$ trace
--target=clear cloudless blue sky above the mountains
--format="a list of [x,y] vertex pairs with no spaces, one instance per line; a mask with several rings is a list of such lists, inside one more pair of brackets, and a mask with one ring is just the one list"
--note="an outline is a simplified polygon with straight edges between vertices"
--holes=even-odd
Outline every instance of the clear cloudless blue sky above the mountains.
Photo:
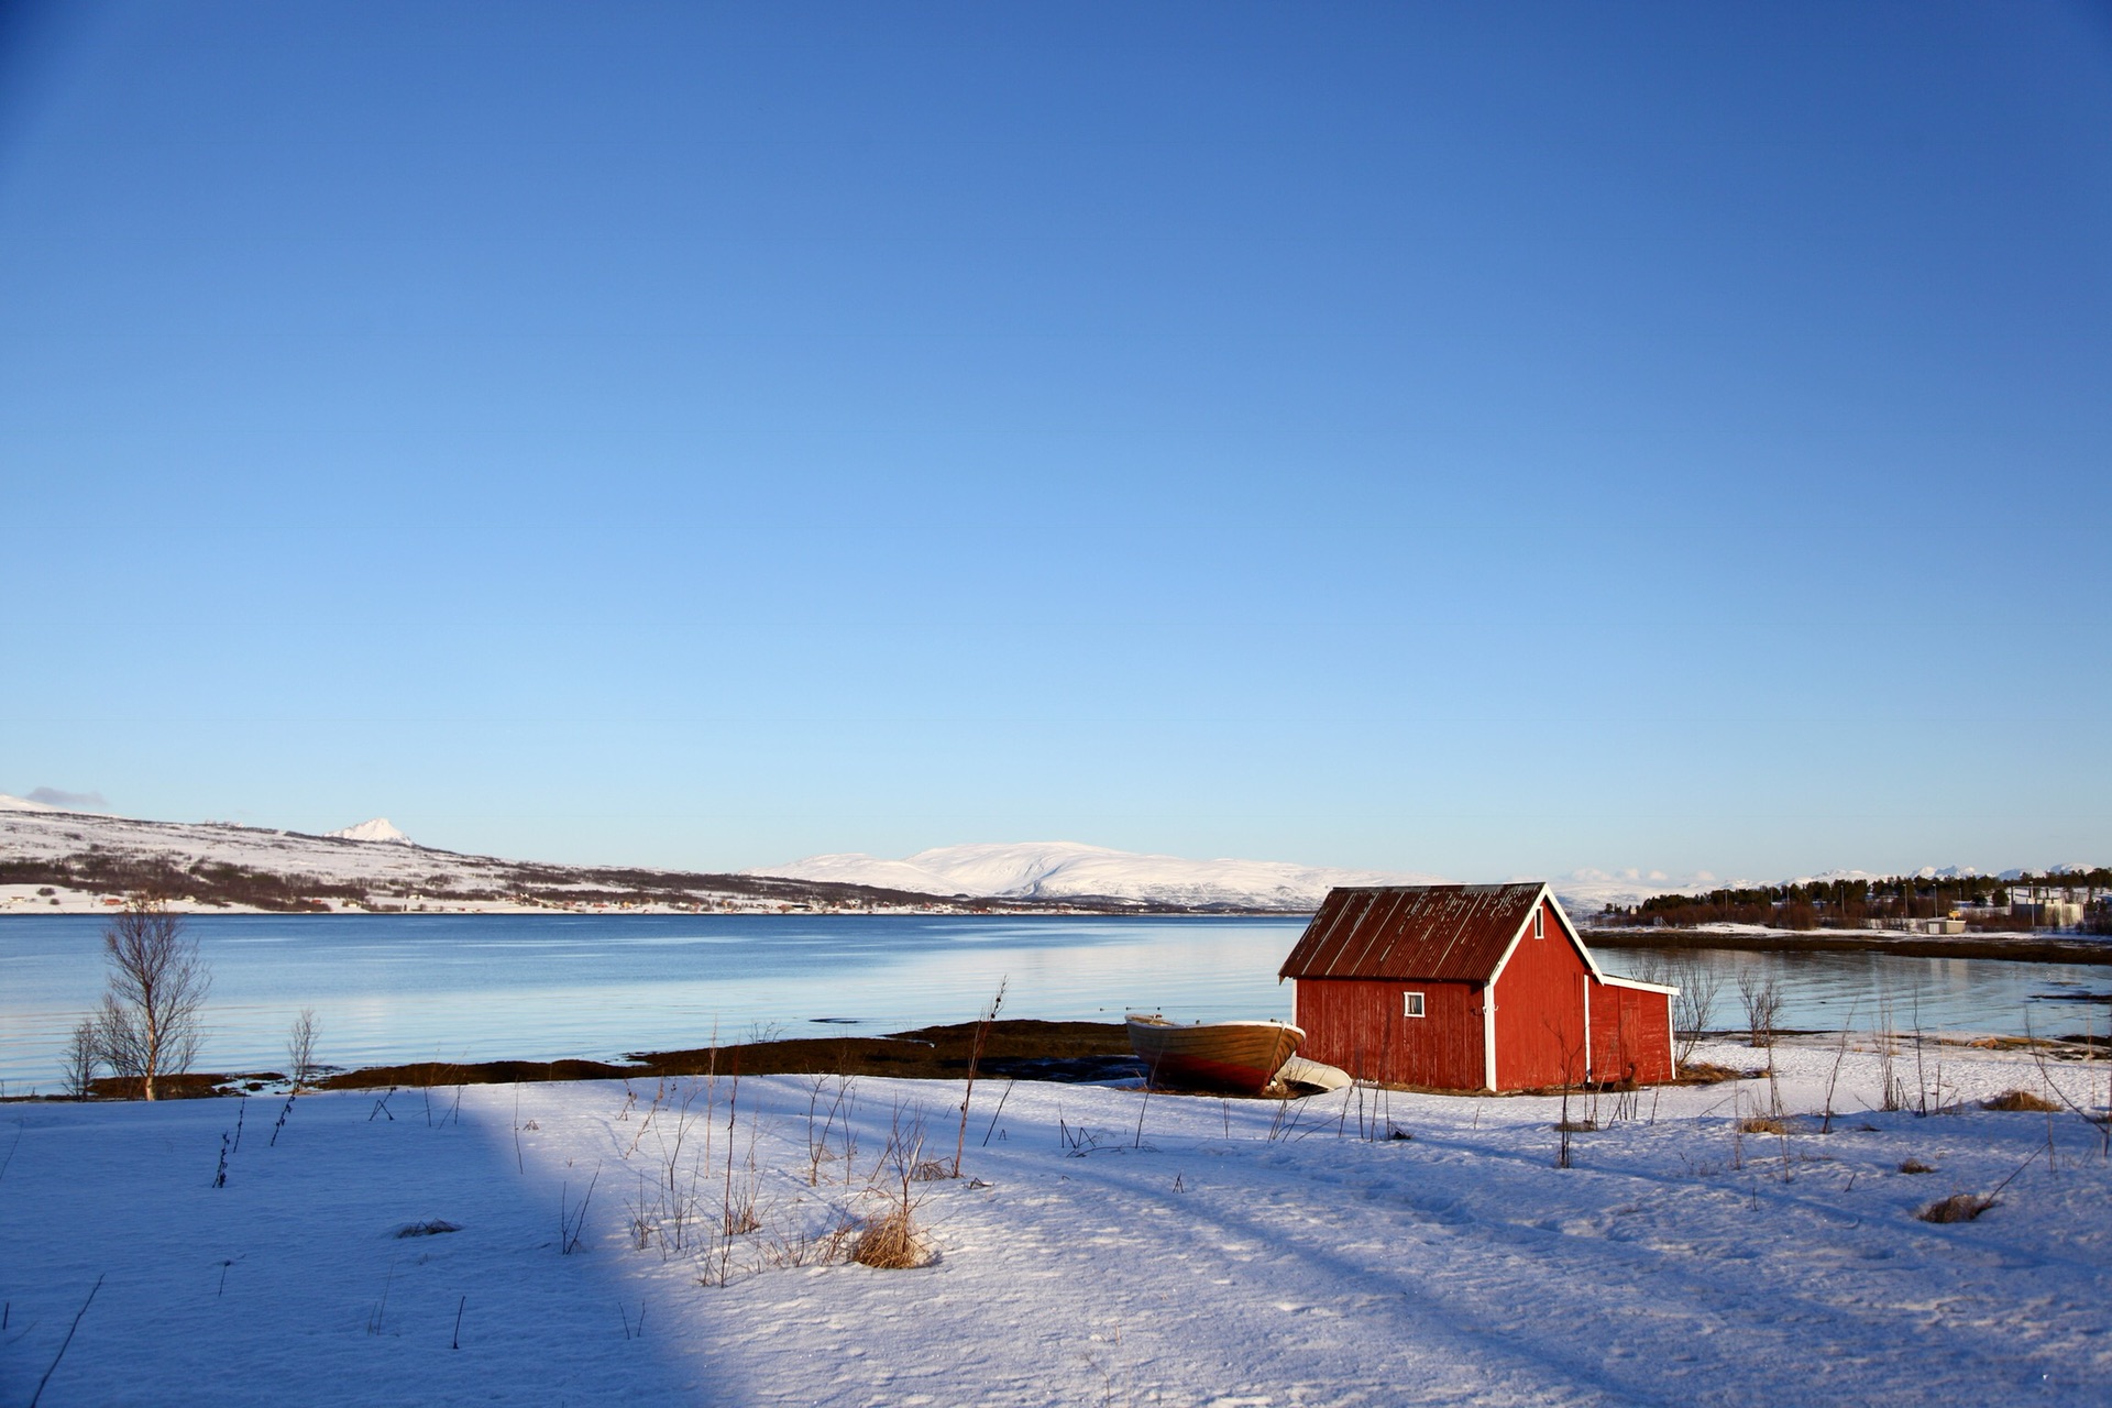
[[15,8],[0,789],[2112,855],[2082,4]]

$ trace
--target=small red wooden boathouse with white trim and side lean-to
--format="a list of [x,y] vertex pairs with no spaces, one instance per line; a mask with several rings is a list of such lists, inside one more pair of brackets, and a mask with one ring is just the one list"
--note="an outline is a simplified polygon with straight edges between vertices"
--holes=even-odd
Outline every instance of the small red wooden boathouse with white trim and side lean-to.
[[1677,988],[1603,971],[1542,882],[1328,891],[1284,977],[1299,1055],[1366,1081],[1540,1089],[1675,1074]]

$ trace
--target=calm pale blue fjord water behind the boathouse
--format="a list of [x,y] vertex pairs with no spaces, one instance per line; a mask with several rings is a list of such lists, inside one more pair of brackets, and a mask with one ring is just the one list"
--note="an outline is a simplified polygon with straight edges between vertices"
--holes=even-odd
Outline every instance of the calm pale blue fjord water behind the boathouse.
[[[881,1034],[965,1022],[1003,979],[1005,1015],[1119,1022],[1288,1017],[1276,969],[1286,918],[836,914],[209,914],[190,916],[213,973],[205,1070],[279,1070],[315,1007],[334,1066],[410,1060],[615,1060],[754,1034]],[[0,918],[0,1081],[59,1079],[65,1032],[103,986],[99,916]],[[1597,950],[1649,975],[1649,950]],[[1890,954],[1679,954],[1783,984],[1789,1028],[2038,1034],[2101,1030],[2112,969]],[[1673,975],[1677,982],[1677,971]]]

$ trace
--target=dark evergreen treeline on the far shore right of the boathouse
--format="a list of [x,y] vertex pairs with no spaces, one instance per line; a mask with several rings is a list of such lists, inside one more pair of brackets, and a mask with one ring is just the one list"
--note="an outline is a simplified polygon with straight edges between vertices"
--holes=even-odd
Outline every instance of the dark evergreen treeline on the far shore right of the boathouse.
[[[1998,880],[1994,876],[1886,876],[1882,880],[1812,880],[1810,884],[1759,884],[1715,889],[1700,895],[1654,895],[1635,906],[1607,906],[1605,925],[1656,925],[1694,929],[1700,925],[1770,925],[1774,929],[1859,927],[1890,918],[1943,918],[1964,912],[1968,927],[2013,929],[2013,903],[2034,899],[2076,899],[2095,906],[2112,893],[2112,868],[2061,870]],[[1975,916],[1981,910],[1981,916]],[[2101,925],[2101,916],[2087,916]]]

